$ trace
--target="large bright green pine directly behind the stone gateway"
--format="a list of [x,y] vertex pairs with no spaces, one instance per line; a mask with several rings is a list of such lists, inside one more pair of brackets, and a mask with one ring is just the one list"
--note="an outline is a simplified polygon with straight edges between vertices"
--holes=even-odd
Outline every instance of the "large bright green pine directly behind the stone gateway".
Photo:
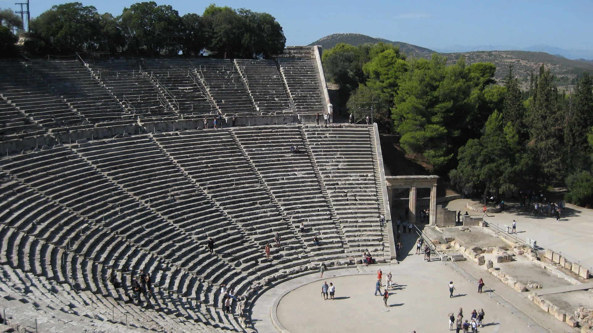
[[466,66],[464,58],[455,65],[446,62],[436,54],[430,61],[410,61],[392,109],[402,147],[407,153],[423,154],[433,170],[445,169],[467,139],[479,137],[491,112],[490,107],[480,107],[480,100],[496,71],[492,64]]

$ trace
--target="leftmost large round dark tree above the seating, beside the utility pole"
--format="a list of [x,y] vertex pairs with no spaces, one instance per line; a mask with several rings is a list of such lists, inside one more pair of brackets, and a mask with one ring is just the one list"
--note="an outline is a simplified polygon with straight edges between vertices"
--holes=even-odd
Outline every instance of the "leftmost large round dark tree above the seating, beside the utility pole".
[[68,54],[98,47],[100,19],[95,7],[71,2],[55,5],[31,20],[31,31],[50,46],[47,51]]

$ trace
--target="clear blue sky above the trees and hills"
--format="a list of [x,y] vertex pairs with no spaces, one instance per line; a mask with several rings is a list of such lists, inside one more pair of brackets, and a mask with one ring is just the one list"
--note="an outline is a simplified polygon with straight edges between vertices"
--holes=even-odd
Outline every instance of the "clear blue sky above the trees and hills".
[[[16,8],[0,0],[0,8]],[[31,0],[33,17],[63,3]],[[139,1],[81,0],[100,13],[119,15]],[[366,1],[366,0],[224,0],[157,1],[179,14],[202,14],[215,2],[232,8],[269,12],[282,25],[286,45],[307,45],[332,33],[372,37],[437,49],[450,45],[528,47],[546,44],[563,49],[593,49],[593,1]]]

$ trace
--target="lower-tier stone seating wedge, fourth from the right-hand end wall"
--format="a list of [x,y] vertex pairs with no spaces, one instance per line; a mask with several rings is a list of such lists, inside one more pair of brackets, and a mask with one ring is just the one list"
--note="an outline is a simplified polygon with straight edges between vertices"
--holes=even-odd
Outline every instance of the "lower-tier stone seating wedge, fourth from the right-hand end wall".
[[[128,193],[142,202],[149,202],[151,210],[192,235],[197,242],[205,244],[208,237],[213,237],[216,253],[232,266],[253,266],[254,256],[261,256],[256,245],[150,137],[94,141],[76,148],[76,152]],[[205,248],[199,250],[203,257],[200,261],[207,267],[214,258],[206,252]]]

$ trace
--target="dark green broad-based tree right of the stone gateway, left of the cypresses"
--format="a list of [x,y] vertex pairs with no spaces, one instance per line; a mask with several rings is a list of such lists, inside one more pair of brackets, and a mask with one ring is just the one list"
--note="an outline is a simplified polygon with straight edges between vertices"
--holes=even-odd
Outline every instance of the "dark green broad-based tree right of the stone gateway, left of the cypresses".
[[484,135],[470,139],[460,148],[457,169],[449,172],[452,185],[464,189],[511,194],[521,183],[521,146],[512,123],[503,125],[502,114],[495,111],[484,126]]

